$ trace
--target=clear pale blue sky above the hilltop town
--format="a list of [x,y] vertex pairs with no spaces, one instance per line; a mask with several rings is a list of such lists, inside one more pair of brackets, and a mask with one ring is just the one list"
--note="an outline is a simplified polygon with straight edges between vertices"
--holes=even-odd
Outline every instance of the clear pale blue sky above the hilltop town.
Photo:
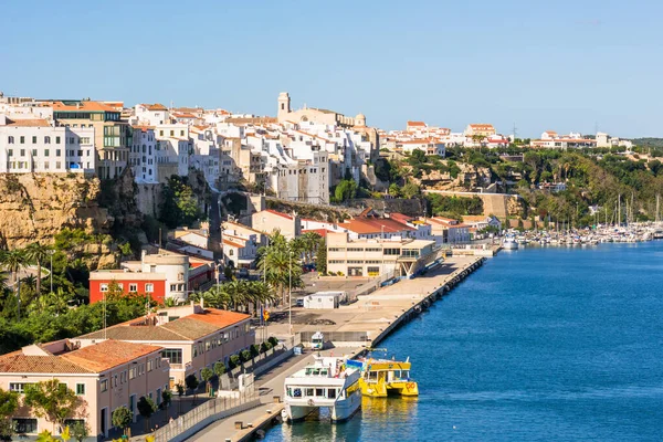
[[6,95],[663,136],[663,2],[4,0]]

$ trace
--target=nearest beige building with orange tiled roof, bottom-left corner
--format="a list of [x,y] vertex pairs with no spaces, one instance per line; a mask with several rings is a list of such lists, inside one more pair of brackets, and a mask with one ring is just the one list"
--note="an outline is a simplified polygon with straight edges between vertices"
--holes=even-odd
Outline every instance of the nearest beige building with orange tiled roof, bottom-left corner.
[[[96,441],[108,436],[115,409],[127,407],[137,415],[140,397],[161,402],[169,386],[169,364],[161,355],[160,346],[114,339],[34,344],[0,356],[0,388],[22,394],[32,383],[57,379],[80,399],[65,424],[84,421]],[[25,407],[11,419],[19,438],[62,431]]]

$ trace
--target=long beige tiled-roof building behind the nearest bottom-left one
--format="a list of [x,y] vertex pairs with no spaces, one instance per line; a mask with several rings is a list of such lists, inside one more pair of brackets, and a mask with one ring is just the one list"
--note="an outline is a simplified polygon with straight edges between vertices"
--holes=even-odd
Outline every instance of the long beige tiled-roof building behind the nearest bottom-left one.
[[108,327],[75,338],[82,346],[103,339],[152,345],[161,349],[169,361],[170,387],[183,383],[189,375],[202,379],[203,368],[215,362],[228,364],[230,356],[255,344],[250,315],[206,308],[193,304],[164,308],[148,317]]

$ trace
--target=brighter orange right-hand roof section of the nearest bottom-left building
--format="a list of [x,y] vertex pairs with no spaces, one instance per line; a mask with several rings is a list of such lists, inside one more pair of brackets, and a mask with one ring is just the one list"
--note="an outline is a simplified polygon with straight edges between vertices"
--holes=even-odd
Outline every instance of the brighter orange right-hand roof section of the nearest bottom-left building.
[[146,344],[108,339],[64,354],[60,358],[64,358],[92,372],[101,372],[123,364],[128,364],[136,358],[147,356],[160,349],[161,347]]

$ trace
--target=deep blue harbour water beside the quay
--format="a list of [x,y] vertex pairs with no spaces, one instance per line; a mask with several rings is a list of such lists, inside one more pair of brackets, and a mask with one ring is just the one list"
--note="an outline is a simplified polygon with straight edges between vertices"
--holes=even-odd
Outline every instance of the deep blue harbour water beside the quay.
[[380,347],[414,400],[266,441],[660,441],[663,241],[503,251]]

